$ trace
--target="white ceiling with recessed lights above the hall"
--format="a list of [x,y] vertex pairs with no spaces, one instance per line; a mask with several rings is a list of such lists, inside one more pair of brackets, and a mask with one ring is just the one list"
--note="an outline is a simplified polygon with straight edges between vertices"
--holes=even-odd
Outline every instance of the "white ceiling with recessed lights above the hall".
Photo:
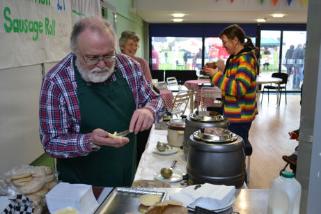
[[[182,12],[185,23],[255,23],[265,18],[266,23],[306,23],[307,6],[298,0],[134,0],[132,11],[148,23],[170,23],[171,14]],[[272,18],[272,13],[285,13],[284,18]]]

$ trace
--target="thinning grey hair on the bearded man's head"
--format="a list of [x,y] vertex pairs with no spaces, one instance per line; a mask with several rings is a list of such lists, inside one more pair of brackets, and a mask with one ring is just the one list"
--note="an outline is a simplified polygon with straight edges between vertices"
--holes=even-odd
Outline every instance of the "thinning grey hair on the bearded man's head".
[[113,26],[107,21],[100,17],[87,17],[79,20],[73,26],[70,36],[70,48],[72,52],[78,50],[78,37],[85,30],[90,29],[92,32],[103,33],[108,31],[114,38],[115,47],[117,47],[117,35],[113,29]]

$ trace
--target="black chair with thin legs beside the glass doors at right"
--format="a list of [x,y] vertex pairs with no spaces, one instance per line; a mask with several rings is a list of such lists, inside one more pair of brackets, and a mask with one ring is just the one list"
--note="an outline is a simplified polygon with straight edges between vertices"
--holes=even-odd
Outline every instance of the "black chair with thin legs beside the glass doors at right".
[[268,93],[268,102],[270,101],[270,91],[276,91],[279,94],[279,99],[278,99],[278,104],[280,104],[280,101],[281,101],[281,94],[282,94],[282,91],[284,90],[284,94],[285,94],[285,103],[287,103],[287,97],[286,97],[286,84],[288,83],[288,77],[289,75],[287,73],[272,73],[272,77],[274,78],[280,78],[282,79],[281,82],[279,83],[273,83],[273,84],[270,84],[270,85],[265,85],[263,87],[263,91],[262,91],[262,99],[261,99],[261,103],[263,101],[263,95],[264,95],[264,92],[267,90],[267,93]]

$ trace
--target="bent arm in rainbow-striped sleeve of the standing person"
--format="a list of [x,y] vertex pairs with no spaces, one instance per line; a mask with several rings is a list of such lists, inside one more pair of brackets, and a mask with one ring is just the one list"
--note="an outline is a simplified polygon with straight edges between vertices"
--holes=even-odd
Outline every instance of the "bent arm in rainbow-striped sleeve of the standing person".
[[222,72],[216,72],[212,77],[214,85],[218,86],[225,95],[242,97],[251,87],[256,77],[256,60],[249,55],[239,57],[239,65],[235,78],[224,76]]

